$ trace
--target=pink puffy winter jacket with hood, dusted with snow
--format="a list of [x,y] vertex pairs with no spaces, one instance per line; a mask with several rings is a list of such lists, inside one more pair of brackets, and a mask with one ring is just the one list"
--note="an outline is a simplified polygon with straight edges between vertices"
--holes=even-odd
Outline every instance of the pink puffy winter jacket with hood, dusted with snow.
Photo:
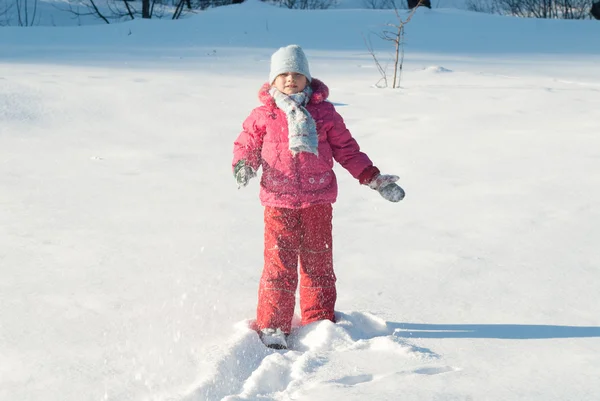
[[311,88],[313,94],[306,109],[317,125],[318,156],[307,152],[292,156],[287,118],[269,94],[268,83],[258,93],[263,105],[252,110],[234,142],[233,167],[244,160],[254,170],[263,168],[260,201],[264,206],[299,209],[335,202],[338,190],[332,169],[334,159],[361,183],[379,172],[360,151],[342,116],[326,101],[329,88],[314,78]]

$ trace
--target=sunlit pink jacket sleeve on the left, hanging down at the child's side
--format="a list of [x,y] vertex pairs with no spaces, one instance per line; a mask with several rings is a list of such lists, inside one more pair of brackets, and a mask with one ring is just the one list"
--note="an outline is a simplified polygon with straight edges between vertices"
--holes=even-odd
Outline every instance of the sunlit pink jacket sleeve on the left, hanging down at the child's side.
[[258,170],[261,164],[261,151],[265,132],[263,113],[261,108],[258,107],[252,110],[246,118],[242,124],[242,132],[233,143],[232,168],[240,160],[244,160],[246,165],[251,166],[255,171]]

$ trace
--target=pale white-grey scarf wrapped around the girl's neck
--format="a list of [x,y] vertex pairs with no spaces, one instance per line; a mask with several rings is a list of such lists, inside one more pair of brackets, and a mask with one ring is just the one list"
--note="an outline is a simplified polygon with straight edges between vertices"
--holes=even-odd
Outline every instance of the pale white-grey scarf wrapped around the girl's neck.
[[292,155],[299,152],[308,152],[319,155],[319,137],[317,125],[308,110],[304,107],[310,100],[312,89],[307,86],[302,92],[286,95],[277,88],[269,91],[275,104],[286,115],[288,121],[289,149]]

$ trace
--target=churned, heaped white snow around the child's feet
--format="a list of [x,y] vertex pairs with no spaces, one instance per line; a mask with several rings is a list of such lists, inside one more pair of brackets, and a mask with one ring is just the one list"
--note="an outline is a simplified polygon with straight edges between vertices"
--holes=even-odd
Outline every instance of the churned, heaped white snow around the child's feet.
[[[398,375],[437,375],[457,370],[439,355],[396,336],[368,313],[337,313],[337,323],[321,321],[296,328],[290,350],[264,347],[248,322],[213,358],[212,374],[184,401],[279,400],[331,394],[353,386],[377,386],[393,393]],[[213,350],[212,356],[215,355]]]

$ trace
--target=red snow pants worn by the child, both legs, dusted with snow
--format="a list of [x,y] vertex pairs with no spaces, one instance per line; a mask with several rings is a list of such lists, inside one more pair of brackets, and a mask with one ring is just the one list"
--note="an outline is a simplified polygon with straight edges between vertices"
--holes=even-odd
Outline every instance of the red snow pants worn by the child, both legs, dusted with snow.
[[265,208],[265,265],[258,289],[257,328],[289,333],[300,267],[302,324],[335,321],[332,206]]

